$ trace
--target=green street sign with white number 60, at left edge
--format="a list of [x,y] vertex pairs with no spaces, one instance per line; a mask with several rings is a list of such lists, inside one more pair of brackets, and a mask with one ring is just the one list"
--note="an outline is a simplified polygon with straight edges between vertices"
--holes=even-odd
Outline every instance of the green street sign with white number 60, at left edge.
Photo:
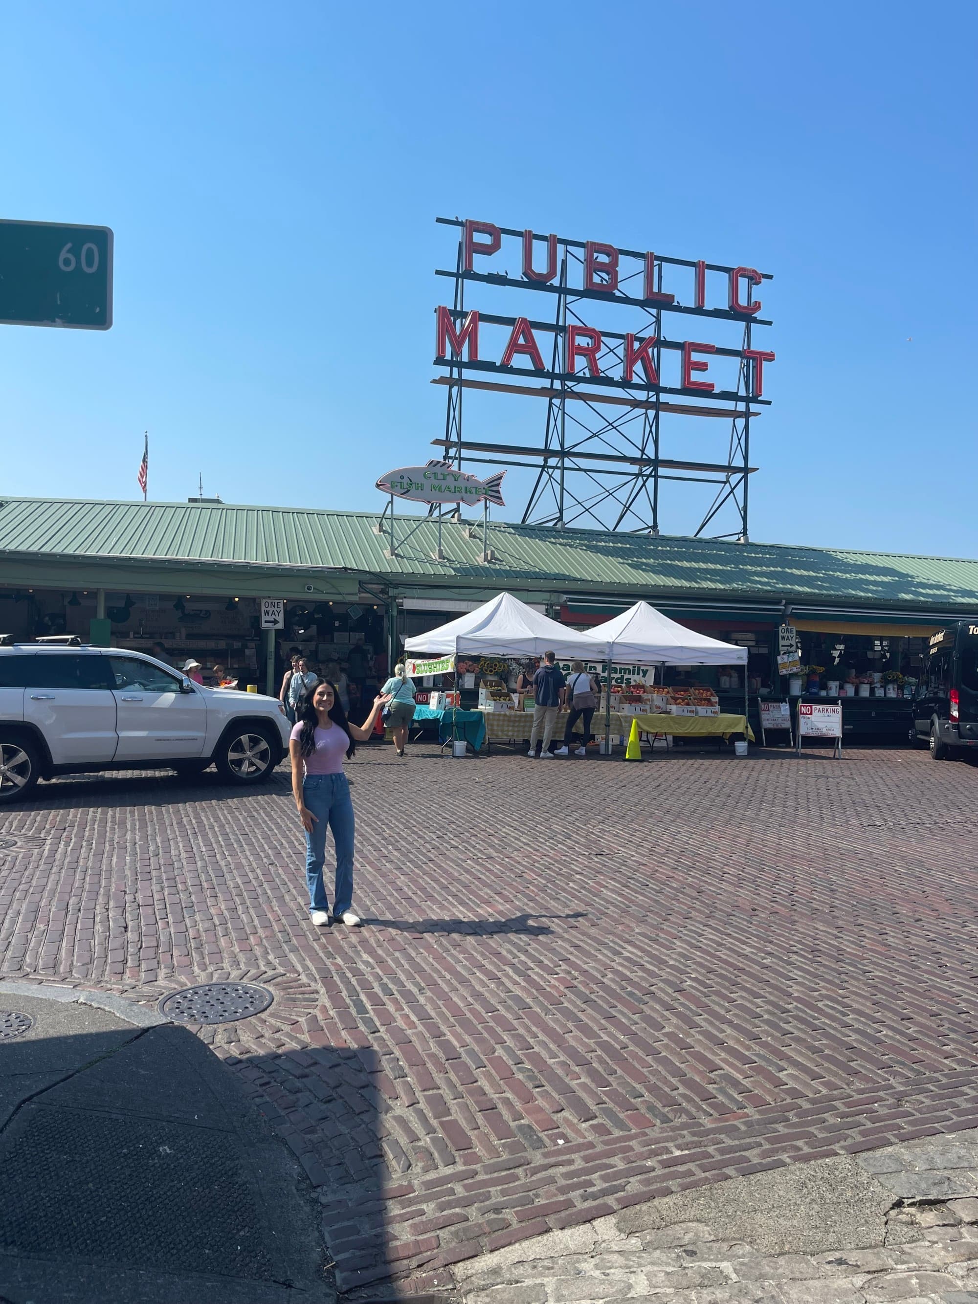
[[111,228],[0,218],[0,323],[108,330]]

